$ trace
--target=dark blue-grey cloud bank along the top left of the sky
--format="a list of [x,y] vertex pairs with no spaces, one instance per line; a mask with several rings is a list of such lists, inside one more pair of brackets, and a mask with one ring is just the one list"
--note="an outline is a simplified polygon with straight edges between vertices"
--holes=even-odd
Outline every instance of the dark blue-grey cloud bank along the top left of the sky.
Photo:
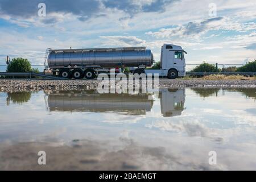
[[[42,20],[46,24],[55,24],[59,19],[51,14],[72,14],[84,22],[92,17],[106,16],[102,14],[106,9],[123,11],[130,16],[138,13],[163,12],[167,4],[176,0],[147,0],[147,1],[119,1],[119,0],[0,0],[0,14],[9,19],[27,19],[33,21],[38,17],[38,4],[46,4],[47,16]],[[31,19],[32,18],[32,19]]]

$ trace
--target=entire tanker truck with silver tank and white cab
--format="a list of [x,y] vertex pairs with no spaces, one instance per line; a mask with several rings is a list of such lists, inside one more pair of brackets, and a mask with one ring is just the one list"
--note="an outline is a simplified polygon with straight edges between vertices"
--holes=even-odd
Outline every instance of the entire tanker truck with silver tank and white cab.
[[154,63],[154,56],[146,47],[47,49],[44,73],[63,78],[93,79],[100,73],[121,73],[125,67],[138,75],[158,73],[174,79],[185,76],[185,57],[181,46],[164,44],[160,69],[146,69]]

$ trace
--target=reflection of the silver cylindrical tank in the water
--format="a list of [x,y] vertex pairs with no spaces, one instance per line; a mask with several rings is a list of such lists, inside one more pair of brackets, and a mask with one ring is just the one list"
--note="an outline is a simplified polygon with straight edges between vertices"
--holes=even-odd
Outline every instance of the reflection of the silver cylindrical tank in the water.
[[49,111],[118,112],[145,114],[152,109],[148,94],[98,94],[96,91],[53,91],[48,94]]

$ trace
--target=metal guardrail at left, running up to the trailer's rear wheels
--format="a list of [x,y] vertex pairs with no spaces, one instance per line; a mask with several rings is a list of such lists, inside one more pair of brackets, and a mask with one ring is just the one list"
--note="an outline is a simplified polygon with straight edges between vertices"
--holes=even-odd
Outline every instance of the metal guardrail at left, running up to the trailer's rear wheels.
[[44,73],[7,73],[7,72],[0,72],[0,76],[28,76],[30,80],[32,79],[33,76],[36,77],[43,77],[43,78],[49,78],[51,80],[67,80],[67,78],[62,78],[62,77],[56,77],[56,76],[51,76],[51,75],[44,75]]

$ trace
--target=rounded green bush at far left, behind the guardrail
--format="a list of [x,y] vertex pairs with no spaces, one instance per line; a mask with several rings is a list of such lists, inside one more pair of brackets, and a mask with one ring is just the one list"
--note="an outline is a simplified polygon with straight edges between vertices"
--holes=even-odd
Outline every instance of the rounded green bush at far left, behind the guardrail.
[[7,66],[6,72],[32,72],[30,61],[22,57],[15,58]]

